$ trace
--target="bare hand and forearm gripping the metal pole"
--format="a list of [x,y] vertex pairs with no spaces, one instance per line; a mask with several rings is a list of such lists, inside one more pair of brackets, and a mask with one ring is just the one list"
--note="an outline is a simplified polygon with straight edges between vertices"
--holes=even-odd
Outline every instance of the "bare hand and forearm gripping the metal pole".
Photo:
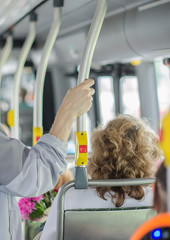
[[92,95],[95,90],[93,79],[87,79],[75,88],[68,90],[63,103],[58,110],[50,134],[55,135],[63,141],[67,141],[73,121],[89,111],[92,106]]

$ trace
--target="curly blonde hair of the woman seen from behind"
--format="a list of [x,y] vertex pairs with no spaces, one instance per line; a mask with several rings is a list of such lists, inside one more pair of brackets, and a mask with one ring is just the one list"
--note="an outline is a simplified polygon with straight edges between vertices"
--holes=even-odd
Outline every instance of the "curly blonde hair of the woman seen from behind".
[[[153,177],[156,161],[161,156],[158,136],[144,120],[130,115],[119,115],[103,130],[94,130],[91,142],[88,170],[92,179]],[[144,196],[142,186],[101,187],[96,190],[105,200],[104,195],[109,192],[116,207],[122,206],[126,194],[137,200]]]

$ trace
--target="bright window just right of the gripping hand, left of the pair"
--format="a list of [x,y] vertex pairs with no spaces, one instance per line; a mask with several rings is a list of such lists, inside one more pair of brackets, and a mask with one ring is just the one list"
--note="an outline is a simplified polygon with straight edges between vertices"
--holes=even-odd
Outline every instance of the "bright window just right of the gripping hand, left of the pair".
[[115,117],[115,99],[113,78],[110,76],[98,77],[99,111],[101,123],[105,125]]

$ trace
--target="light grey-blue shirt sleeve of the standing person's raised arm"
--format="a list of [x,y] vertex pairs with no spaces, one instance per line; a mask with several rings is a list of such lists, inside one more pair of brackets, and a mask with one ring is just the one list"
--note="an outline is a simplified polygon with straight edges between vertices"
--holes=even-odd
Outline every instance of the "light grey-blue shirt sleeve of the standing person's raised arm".
[[[0,144],[3,142],[1,140],[0,137]],[[30,149],[18,140],[8,138],[8,141],[12,146],[12,151],[7,153],[8,147],[4,144],[5,153],[10,160],[8,159],[8,165],[3,168],[3,171],[6,171],[4,181],[1,183],[3,191],[15,196],[31,197],[52,189],[67,165],[65,161],[67,143],[50,134],[41,137],[38,143]],[[13,164],[11,164],[12,161],[14,161]],[[11,166],[15,173],[12,177],[5,178],[8,173],[13,171]]]

